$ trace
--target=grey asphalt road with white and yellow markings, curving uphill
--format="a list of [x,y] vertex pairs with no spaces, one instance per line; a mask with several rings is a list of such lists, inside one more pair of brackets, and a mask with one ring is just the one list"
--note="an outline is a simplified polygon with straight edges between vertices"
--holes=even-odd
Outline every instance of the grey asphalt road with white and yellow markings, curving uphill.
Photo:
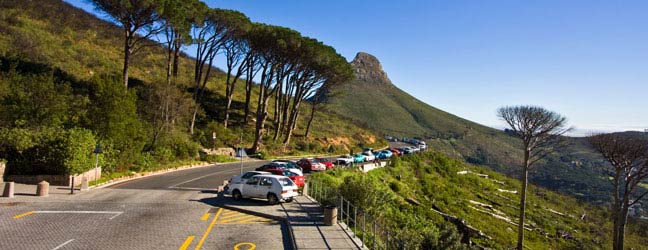
[[[264,162],[245,162],[243,171]],[[150,176],[46,202],[0,205],[0,249],[286,249],[278,221],[219,209],[240,163]]]

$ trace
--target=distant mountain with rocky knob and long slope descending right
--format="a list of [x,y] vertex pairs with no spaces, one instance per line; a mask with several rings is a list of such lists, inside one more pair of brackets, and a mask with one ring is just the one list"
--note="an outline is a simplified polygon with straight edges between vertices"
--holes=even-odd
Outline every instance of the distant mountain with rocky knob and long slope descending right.
[[[518,176],[522,151],[517,138],[432,107],[402,91],[373,55],[360,52],[351,64],[356,79],[329,91],[328,110],[384,135],[423,138],[432,150]],[[429,89],[434,91],[433,86]],[[584,138],[566,139],[568,146],[539,162],[530,181],[582,200],[608,202],[610,185],[600,176],[604,160]]]

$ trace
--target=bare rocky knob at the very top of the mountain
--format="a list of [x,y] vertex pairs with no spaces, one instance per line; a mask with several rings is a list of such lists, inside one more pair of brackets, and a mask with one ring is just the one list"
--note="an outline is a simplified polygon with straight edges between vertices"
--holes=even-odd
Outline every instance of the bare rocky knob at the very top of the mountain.
[[391,84],[391,80],[382,69],[380,61],[375,56],[358,52],[356,57],[351,61],[351,66],[355,72],[356,78],[366,82]]

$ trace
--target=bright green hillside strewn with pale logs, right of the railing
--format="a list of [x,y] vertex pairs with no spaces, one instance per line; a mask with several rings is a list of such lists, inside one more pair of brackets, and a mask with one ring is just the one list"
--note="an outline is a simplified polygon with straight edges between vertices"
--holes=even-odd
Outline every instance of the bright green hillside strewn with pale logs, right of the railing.
[[[514,190],[520,182],[437,152],[406,155],[369,173],[337,169],[310,178],[309,192],[324,203],[339,203],[333,197],[341,194],[379,218],[390,230],[392,249],[399,248],[398,240],[407,249],[461,249],[448,244],[466,236],[487,249],[512,249],[517,241],[519,194]],[[601,207],[532,185],[526,218],[525,249],[611,248],[612,221]],[[646,222],[628,225],[628,249],[645,249],[647,227]]]

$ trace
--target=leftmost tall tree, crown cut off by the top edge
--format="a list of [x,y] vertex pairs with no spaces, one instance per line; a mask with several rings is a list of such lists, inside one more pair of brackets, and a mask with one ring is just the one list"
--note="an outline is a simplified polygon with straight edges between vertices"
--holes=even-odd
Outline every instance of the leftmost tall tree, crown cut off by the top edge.
[[90,0],[102,12],[110,15],[124,30],[124,66],[122,77],[128,87],[128,67],[131,57],[145,41],[157,35],[163,27],[156,25],[160,19],[156,0]]

